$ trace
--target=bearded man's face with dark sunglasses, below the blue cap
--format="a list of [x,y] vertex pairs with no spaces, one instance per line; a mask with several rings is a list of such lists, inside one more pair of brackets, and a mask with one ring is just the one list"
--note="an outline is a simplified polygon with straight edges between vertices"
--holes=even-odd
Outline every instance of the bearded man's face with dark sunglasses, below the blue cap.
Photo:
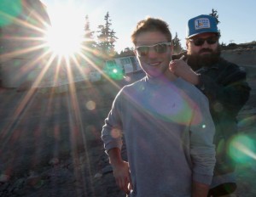
[[[216,41],[216,42],[214,42]],[[189,55],[201,57],[218,53],[218,37],[215,33],[202,33],[189,38],[186,42]]]

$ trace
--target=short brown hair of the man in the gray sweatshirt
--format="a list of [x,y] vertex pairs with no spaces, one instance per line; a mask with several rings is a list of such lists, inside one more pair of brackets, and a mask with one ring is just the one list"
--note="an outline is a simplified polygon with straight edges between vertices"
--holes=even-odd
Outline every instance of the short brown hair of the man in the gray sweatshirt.
[[160,31],[163,33],[168,42],[172,42],[172,33],[169,25],[164,21],[156,18],[147,17],[137,23],[135,30],[131,34],[131,42],[137,43],[137,36],[148,31]]

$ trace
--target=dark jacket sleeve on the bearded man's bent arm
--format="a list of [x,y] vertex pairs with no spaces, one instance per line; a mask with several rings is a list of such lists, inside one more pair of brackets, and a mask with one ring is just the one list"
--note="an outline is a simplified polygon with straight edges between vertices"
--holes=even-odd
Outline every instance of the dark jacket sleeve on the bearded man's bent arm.
[[[224,67],[224,65],[223,65]],[[210,104],[222,104],[230,114],[237,115],[246,104],[251,88],[247,84],[245,70],[236,65],[226,66],[219,70],[218,77],[210,76],[213,70],[202,70],[199,89],[207,95]]]

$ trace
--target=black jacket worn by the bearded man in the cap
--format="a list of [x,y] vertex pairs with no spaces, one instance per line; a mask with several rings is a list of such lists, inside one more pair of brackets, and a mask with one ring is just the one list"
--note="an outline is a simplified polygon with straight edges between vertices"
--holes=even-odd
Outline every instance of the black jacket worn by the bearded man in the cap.
[[[179,59],[182,55],[186,58],[186,53],[181,53],[173,55],[172,59]],[[214,65],[199,65],[199,70],[195,71],[201,74],[201,83],[197,87],[209,100],[216,127],[214,144],[217,161],[214,176],[234,172],[236,162],[230,156],[229,145],[232,137],[237,134],[236,116],[250,95],[246,72],[223,58],[219,58]]]

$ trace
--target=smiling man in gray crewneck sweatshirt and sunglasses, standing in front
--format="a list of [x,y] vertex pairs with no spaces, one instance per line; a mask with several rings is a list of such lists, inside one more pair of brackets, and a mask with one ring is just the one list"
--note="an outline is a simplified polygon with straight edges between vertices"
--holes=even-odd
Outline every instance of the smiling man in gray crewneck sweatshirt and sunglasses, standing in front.
[[146,76],[119,91],[102,128],[116,183],[132,197],[205,197],[215,164],[207,98],[168,69],[165,21],[139,21],[131,40]]

